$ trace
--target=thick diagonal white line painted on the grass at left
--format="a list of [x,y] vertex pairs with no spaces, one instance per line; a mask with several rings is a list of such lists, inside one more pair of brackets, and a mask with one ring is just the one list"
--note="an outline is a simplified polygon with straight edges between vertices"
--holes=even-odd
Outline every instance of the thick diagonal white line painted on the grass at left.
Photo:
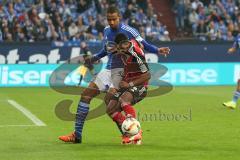
[[37,116],[32,114],[29,110],[18,104],[16,101],[8,99],[7,100],[9,104],[11,104],[13,107],[15,107],[17,110],[22,112],[27,118],[29,118],[35,125],[37,126],[46,126],[46,124],[41,121]]

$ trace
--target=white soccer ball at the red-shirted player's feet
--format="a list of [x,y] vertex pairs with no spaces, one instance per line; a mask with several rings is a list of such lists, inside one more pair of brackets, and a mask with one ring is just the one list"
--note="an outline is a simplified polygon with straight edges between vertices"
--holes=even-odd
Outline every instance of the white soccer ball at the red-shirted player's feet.
[[134,136],[140,129],[140,123],[135,118],[127,118],[122,123],[122,131],[125,135]]

